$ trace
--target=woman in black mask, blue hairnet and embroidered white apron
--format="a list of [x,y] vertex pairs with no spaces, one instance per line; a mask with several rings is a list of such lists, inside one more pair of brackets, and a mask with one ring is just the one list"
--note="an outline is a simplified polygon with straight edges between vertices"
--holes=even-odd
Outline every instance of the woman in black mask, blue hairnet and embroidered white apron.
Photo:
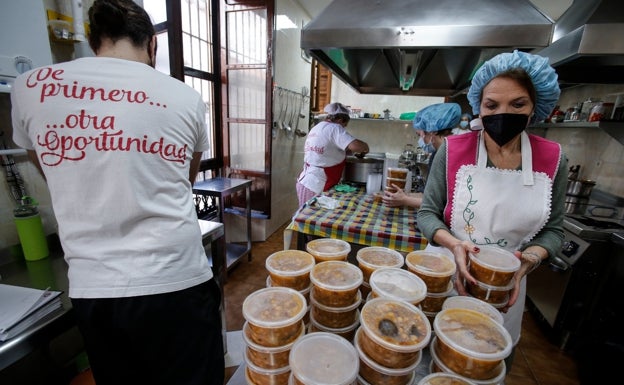
[[[440,147],[417,214],[427,248],[454,256],[460,295],[468,294],[465,281],[477,284],[468,271],[469,253],[487,245],[520,259],[501,309],[514,346],[520,339],[526,275],[563,240],[567,159],[558,143],[525,131],[548,116],[559,94],[557,73],[546,58],[514,51],[485,62],[468,91],[478,115],[471,124],[475,131],[451,136]],[[512,362],[513,352],[506,359],[508,369]]]

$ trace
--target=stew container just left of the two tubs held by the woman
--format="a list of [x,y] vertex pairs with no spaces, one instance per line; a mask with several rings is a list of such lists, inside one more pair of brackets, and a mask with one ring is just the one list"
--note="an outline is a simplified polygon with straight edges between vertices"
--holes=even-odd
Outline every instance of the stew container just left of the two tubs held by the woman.
[[412,251],[405,256],[407,270],[419,276],[427,285],[430,293],[447,290],[451,277],[457,270],[455,261],[442,253]]

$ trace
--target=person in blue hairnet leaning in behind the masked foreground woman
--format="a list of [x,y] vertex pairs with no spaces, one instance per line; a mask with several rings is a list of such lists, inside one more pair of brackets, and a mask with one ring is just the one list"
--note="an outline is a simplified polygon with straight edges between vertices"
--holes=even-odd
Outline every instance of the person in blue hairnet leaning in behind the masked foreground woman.
[[[423,130],[424,136],[432,146],[433,151],[429,156],[429,167],[433,161],[438,148],[444,142],[444,138],[451,135],[453,127],[457,126],[461,108],[457,103],[432,104],[420,110],[414,118],[413,126],[416,130]],[[392,185],[396,192],[385,191],[382,198],[383,203],[388,207],[412,206],[420,207],[422,197],[419,195],[407,194],[399,186]]]

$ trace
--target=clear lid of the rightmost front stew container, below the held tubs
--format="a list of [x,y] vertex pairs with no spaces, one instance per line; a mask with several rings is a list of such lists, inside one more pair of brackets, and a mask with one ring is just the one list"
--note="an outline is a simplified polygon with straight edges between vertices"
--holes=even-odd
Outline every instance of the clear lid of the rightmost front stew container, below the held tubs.
[[495,361],[511,353],[511,336],[503,325],[472,309],[441,310],[433,329],[446,345],[469,357]]

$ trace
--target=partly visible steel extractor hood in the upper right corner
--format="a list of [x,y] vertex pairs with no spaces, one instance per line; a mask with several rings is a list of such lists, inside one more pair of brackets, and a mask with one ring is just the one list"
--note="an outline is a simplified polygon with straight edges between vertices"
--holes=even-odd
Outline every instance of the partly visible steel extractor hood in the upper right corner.
[[574,0],[557,20],[548,57],[567,84],[624,83],[624,1]]

